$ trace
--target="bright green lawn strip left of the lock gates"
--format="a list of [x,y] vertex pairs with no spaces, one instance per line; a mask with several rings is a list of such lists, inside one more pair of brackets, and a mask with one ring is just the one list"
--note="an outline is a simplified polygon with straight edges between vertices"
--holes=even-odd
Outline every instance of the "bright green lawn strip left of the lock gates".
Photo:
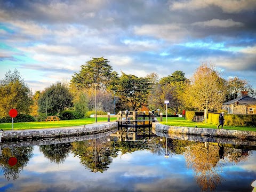
[[[116,118],[110,118],[110,121],[115,121]],[[98,117],[97,122],[107,122],[108,118]],[[13,123],[13,130],[24,130],[24,129],[44,129],[54,127],[68,127],[87,125],[95,123],[95,118],[83,118],[74,120],[61,120],[54,122],[25,122],[25,123]],[[0,123],[0,129],[12,130],[12,123]]]

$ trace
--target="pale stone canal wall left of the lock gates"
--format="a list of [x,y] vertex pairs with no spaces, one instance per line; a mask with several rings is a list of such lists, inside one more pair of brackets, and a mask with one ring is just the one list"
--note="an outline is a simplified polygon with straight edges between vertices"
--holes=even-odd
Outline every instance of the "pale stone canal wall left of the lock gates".
[[90,125],[81,125],[73,127],[61,127],[52,129],[34,129],[34,130],[10,130],[2,132],[3,141],[69,137],[75,135],[85,135],[92,133],[106,132],[117,129],[117,122],[99,122]]

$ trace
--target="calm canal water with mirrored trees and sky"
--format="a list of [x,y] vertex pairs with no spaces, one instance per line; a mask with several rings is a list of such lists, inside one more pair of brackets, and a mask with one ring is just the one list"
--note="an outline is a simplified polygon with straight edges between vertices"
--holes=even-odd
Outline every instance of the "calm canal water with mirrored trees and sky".
[[255,141],[132,131],[0,143],[0,191],[253,190]]

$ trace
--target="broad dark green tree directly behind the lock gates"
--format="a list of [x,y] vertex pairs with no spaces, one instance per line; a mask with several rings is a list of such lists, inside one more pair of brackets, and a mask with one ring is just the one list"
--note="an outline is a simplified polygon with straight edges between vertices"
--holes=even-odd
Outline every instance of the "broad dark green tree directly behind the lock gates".
[[148,78],[126,75],[122,72],[119,78],[116,94],[119,97],[121,110],[137,111],[147,105],[147,97],[151,89]]

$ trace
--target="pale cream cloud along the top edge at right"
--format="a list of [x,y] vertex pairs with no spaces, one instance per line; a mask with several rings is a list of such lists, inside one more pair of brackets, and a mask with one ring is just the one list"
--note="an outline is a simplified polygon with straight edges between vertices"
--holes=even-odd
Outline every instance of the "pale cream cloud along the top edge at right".
[[190,0],[184,2],[169,1],[170,10],[199,10],[211,5],[218,6],[226,13],[238,13],[256,8],[255,0]]

